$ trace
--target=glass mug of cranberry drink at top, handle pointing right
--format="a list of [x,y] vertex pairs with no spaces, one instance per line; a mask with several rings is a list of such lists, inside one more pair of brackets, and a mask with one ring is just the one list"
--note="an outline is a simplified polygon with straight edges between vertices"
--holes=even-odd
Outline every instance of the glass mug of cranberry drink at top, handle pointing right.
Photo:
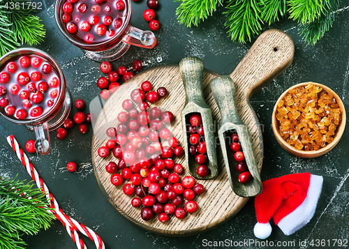
[[151,31],[131,26],[131,0],[56,0],[54,16],[64,36],[94,61],[112,61],[130,45],[156,46]]

